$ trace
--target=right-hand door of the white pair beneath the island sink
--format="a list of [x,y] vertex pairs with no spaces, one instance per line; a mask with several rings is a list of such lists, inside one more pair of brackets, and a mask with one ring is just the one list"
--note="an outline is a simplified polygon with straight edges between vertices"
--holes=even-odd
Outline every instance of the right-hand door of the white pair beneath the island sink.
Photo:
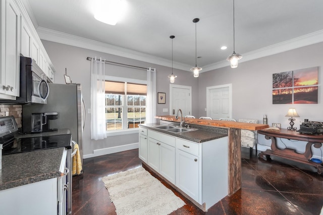
[[175,184],[175,147],[160,143],[159,156],[159,173]]

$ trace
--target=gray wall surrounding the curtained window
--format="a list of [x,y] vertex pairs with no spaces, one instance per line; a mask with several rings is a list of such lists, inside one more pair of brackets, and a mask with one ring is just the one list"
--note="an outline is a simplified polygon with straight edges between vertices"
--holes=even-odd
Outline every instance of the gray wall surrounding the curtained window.
[[[82,94],[84,97],[86,109],[89,109],[91,107],[90,61],[86,60],[86,57],[101,57],[102,59],[106,59],[107,61],[114,61],[118,63],[135,65],[145,68],[156,68],[156,91],[166,93],[167,95],[166,104],[157,104],[157,115],[169,114],[164,113],[163,108],[169,108],[170,82],[168,75],[172,72],[171,68],[154,65],[147,62],[132,60],[128,58],[118,57],[106,53],[96,52],[88,49],[67,46],[46,40],[42,40],[42,43],[46,52],[48,53],[51,62],[53,63],[56,69],[54,82],[65,83],[63,75],[65,74],[65,68],[67,68],[67,75],[71,77],[72,82],[82,84]],[[106,64],[105,71],[105,74],[110,76],[146,79],[146,71],[141,69]],[[194,99],[198,97],[198,78],[194,78],[193,73],[183,70],[173,69],[173,72],[178,76],[175,80],[175,84],[188,85],[192,87],[192,98],[194,101]],[[198,107],[198,104],[193,102],[192,112],[198,113]],[[85,157],[90,157],[91,154],[93,154],[93,150],[138,143],[138,134],[113,136],[101,141],[91,140],[90,118],[91,114],[87,113],[86,124],[83,134],[83,154],[85,155]]]

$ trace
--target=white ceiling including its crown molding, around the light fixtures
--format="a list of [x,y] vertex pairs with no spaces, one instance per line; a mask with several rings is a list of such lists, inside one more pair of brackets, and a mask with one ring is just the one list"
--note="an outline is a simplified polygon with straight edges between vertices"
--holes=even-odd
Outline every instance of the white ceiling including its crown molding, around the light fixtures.
[[[233,52],[233,1],[124,1],[126,15],[112,26],[93,18],[94,0],[22,0],[37,32],[95,40],[146,56],[150,63],[172,66],[170,35],[175,35],[174,68],[185,70],[195,66],[192,20],[199,18],[197,65],[204,71],[230,65],[226,58]],[[235,1],[235,52],[243,56],[240,62],[323,41],[322,10],[321,0]]]

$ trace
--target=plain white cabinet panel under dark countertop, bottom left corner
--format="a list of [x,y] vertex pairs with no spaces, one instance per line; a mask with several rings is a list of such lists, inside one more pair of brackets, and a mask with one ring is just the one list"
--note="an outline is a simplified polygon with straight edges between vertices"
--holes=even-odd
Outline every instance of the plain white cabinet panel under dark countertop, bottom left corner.
[[0,191],[0,214],[57,215],[57,178]]

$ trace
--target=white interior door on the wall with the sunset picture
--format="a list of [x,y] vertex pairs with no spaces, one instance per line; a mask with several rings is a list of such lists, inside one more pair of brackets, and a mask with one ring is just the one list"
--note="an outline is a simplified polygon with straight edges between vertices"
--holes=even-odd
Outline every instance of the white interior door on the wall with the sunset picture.
[[232,84],[206,88],[207,116],[232,118]]

